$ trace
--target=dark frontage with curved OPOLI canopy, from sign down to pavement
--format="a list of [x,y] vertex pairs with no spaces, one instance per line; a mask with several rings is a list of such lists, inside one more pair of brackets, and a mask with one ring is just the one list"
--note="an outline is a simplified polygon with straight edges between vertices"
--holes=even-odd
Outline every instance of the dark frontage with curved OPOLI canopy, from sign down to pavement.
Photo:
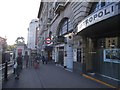
[[120,4],[112,3],[78,25],[85,42],[85,73],[98,74],[120,84]]

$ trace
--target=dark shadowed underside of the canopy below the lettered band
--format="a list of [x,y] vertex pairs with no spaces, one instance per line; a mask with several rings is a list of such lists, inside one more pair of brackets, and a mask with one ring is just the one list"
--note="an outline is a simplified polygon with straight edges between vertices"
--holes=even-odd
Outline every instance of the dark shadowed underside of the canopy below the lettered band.
[[93,24],[78,34],[90,38],[120,36],[120,14],[109,19]]

